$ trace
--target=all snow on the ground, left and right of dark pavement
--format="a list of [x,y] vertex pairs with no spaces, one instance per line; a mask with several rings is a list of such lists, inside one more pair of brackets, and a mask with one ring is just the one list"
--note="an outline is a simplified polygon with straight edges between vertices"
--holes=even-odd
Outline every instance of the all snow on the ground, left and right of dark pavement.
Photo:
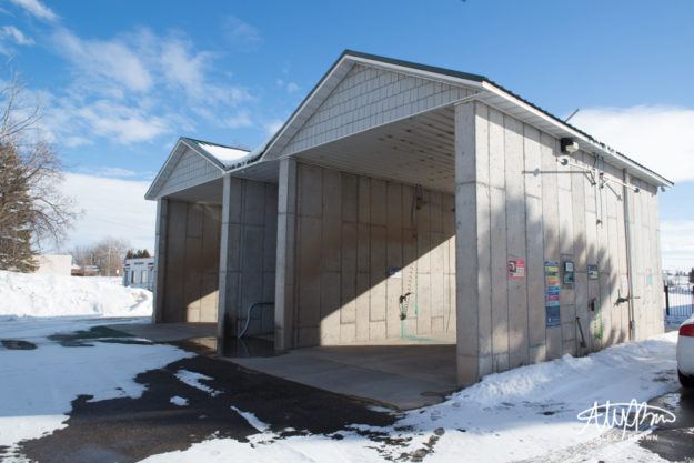
[[[0,401],[0,445],[11,446],[64,426],[71,401],[80,394],[93,395],[94,401],[138,397],[143,392],[133,381],[138,373],[192,355],[158,344],[94,342],[92,348],[68,349],[47,338],[89,330],[103,324],[103,316],[150,313],[151,293],[122,288],[113,279],[0,272],[0,340],[37,345],[34,350],[0,348],[0,396],[4,397]],[[340,432],[342,439],[279,439],[252,413],[231,407],[230,413],[235,411],[259,430],[250,442],[211,439],[145,461],[371,462],[402,454],[421,455],[426,462],[657,461],[635,444],[637,434],[622,436],[585,425],[577,414],[594,403],[642,402],[676,390],[675,342],[676,333],[671,332],[584,358],[565,355],[491,374],[442,404],[402,414],[392,426],[348,426]],[[201,383],[204,375],[180,370],[177,376],[207,387]],[[181,406],[188,403],[178,396],[171,401]],[[384,433],[390,442],[374,442],[364,435],[368,432]]]

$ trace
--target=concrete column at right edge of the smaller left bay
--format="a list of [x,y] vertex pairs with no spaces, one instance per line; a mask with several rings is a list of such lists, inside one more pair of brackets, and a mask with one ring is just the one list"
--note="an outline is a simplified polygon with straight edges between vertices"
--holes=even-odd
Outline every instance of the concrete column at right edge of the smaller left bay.
[[[222,187],[222,217],[221,217],[221,234],[220,234],[220,258],[219,258],[219,301],[218,301],[218,315],[217,315],[217,338],[218,338],[218,352],[223,350],[224,338],[227,333],[227,324],[231,326],[235,325],[235,311],[227,312],[227,305],[229,304],[229,289],[231,283],[231,274],[229,272],[232,262],[230,246],[231,242],[231,214],[232,214],[232,188],[231,177],[223,177]],[[229,320],[228,320],[229,318]],[[220,352],[221,353],[221,352]]]

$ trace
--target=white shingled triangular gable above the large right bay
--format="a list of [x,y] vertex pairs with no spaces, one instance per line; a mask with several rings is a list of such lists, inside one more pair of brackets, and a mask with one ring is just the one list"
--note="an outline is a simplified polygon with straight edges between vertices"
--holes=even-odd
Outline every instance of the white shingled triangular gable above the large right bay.
[[278,158],[463,100],[475,91],[354,64]]

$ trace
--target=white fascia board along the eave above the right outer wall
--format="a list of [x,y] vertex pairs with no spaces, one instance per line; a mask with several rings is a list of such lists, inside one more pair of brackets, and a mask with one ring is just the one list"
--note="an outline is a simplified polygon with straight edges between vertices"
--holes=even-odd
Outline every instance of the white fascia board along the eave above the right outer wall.
[[[625,163],[628,165],[628,169],[635,172],[638,172],[638,174],[636,177],[641,177],[641,178],[646,178],[650,179],[651,181],[654,181],[656,183],[657,187],[664,185],[664,187],[670,187],[672,188],[674,185],[673,182],[671,182],[670,180],[665,179],[664,177],[660,175],[656,172],[651,171],[647,168],[644,168],[643,165],[640,165],[638,163],[632,161],[631,159],[626,158],[625,155],[620,154],[617,151],[602,147],[600,143],[596,143],[595,141],[591,140],[590,138],[587,138],[584,133],[581,133],[580,131],[577,131],[576,129],[574,129],[571,125],[567,125],[563,122],[561,122],[560,120],[551,117],[550,114],[547,114],[544,111],[539,110],[537,108],[534,108],[532,104],[526,103],[525,101],[522,101],[520,99],[517,99],[516,97],[509,94],[507,92],[505,92],[504,90],[500,89],[499,87],[494,85],[491,82],[483,82],[483,87],[484,90],[494,93],[501,98],[504,98],[505,100],[512,102],[513,104],[522,108],[524,111],[527,111],[530,113],[532,113],[533,115],[543,119],[545,122],[556,127],[557,129],[564,131],[564,132],[569,132],[571,134],[571,137],[574,137],[576,139],[579,139],[581,142],[587,144],[592,150],[596,150],[599,151],[601,154],[606,155],[607,158],[616,158],[618,159],[621,162]],[[484,104],[489,104],[485,101],[482,101]],[[499,109],[499,108],[496,108]],[[502,112],[505,112],[503,110],[500,110]],[[539,130],[542,131],[542,129],[536,128]]]

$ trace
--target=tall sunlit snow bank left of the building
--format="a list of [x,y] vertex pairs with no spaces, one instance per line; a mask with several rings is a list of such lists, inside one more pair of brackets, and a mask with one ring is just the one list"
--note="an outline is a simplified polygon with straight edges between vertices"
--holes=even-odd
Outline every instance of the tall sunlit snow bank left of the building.
[[152,293],[118,278],[0,271],[0,316],[151,316]]

